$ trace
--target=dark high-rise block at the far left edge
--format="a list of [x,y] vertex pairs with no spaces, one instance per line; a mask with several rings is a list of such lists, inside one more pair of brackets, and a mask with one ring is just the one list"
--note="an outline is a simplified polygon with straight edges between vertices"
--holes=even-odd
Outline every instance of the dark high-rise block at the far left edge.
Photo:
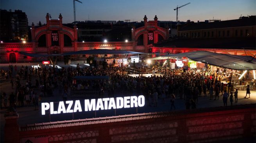
[[1,10],[0,39],[3,41],[28,40],[28,19],[22,10]]

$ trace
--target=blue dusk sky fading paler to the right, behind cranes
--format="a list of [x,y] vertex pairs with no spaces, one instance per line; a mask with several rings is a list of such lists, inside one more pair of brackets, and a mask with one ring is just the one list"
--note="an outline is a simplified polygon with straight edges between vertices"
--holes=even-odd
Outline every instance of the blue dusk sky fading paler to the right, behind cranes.
[[[77,21],[120,20],[142,21],[144,15],[149,20],[158,16],[160,21],[175,21],[177,5],[188,2],[179,10],[179,20],[204,21],[206,19],[230,20],[240,15],[256,15],[256,0],[80,0],[76,2]],[[63,16],[63,23],[73,22],[73,0],[0,0],[1,9],[20,9],[26,12],[29,25],[41,21],[46,23],[46,13],[52,19]]]

